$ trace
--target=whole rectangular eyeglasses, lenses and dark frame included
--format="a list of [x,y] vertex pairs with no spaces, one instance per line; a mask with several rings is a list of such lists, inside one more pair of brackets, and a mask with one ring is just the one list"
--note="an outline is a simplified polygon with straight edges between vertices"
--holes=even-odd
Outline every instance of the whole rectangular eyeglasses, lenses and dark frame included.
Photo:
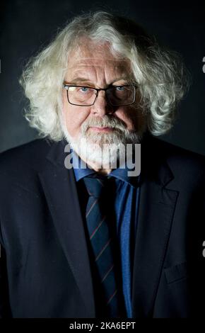
[[64,83],[67,98],[75,106],[93,106],[99,91],[105,91],[105,98],[111,106],[127,106],[135,102],[136,86],[110,86],[106,89],[96,89],[89,86],[70,86]]

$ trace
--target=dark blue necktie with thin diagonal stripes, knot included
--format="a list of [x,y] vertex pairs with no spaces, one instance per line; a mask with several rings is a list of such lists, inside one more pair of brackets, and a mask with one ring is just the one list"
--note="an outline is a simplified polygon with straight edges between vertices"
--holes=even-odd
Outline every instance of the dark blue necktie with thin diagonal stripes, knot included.
[[[109,220],[109,212],[107,211],[109,209],[108,197],[112,192],[112,187],[108,188],[108,186],[113,186],[113,180],[112,178],[107,179],[99,176],[98,178],[88,176],[83,178],[89,194],[86,222],[95,263],[94,268],[99,283],[98,287],[101,289],[102,313],[107,317],[120,317],[122,316],[123,305],[122,298],[120,300],[122,295],[119,286],[122,283],[117,283],[117,275],[120,274],[119,268],[117,274],[117,258],[114,253],[117,247],[113,232],[115,226],[113,226],[113,220]],[[111,184],[109,184],[110,182]]]

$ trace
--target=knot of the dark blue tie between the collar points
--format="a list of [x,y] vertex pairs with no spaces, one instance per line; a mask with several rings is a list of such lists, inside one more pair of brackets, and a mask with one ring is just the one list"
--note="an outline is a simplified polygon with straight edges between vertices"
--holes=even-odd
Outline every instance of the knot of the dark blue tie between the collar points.
[[86,176],[83,178],[86,185],[88,194],[94,196],[95,198],[100,198],[107,189],[107,184],[109,179],[107,177],[90,177]]

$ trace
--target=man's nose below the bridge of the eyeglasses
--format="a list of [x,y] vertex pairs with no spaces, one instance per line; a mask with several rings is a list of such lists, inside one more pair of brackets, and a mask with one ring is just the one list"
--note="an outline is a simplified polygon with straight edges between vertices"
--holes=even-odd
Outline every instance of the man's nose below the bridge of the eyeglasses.
[[107,113],[113,113],[113,108],[107,102],[105,91],[98,91],[94,105],[91,107],[91,113],[103,116]]

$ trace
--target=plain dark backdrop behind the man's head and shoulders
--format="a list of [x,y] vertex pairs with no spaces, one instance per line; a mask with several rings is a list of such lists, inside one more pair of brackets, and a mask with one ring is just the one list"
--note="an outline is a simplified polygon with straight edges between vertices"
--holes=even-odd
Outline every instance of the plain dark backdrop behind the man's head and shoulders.
[[18,78],[23,65],[64,26],[90,9],[104,9],[133,18],[148,33],[182,54],[192,74],[188,96],[180,104],[175,127],[163,140],[205,154],[205,1],[7,0],[0,4],[0,152],[28,142],[37,132],[23,118],[25,98]]

